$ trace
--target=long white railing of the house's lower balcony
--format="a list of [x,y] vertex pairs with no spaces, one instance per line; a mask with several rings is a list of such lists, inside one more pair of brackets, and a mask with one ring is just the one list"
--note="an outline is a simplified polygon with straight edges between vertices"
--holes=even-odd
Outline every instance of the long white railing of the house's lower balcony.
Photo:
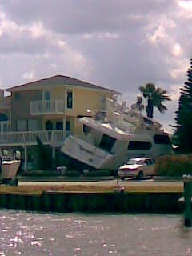
[[1,145],[36,145],[37,138],[43,144],[62,145],[66,138],[66,132],[63,130],[41,130],[41,131],[22,131],[0,133]]

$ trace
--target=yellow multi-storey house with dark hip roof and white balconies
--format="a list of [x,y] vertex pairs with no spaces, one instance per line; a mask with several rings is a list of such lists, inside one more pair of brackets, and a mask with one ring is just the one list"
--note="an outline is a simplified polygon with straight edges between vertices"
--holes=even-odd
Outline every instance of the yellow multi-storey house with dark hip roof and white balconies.
[[[1,130],[1,147],[22,147],[25,152],[25,169],[31,149],[37,146],[37,137],[53,149],[61,147],[69,134],[81,135],[78,118],[93,116],[106,110],[106,98],[113,98],[117,91],[84,82],[76,78],[55,75],[38,81],[6,89],[6,110],[0,98],[1,114],[6,114],[6,130]],[[5,99],[4,99],[5,101]],[[1,103],[2,102],[2,103]],[[89,111],[88,111],[89,110]],[[4,113],[6,111],[6,113]]]

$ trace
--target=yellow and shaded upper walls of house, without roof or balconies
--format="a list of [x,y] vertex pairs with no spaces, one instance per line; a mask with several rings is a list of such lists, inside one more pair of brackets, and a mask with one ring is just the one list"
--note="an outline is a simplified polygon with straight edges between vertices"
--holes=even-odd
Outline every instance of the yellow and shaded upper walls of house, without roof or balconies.
[[[46,122],[50,120],[53,123],[53,130],[56,129],[57,122],[70,121],[70,133],[82,134],[82,124],[78,122],[78,116],[93,116],[95,111],[104,110],[105,98],[111,98],[112,93],[77,88],[72,86],[54,86],[54,88],[45,86],[44,90],[50,90],[51,100],[66,101],[67,91],[73,92],[73,108],[65,110],[65,114],[46,114],[30,115],[30,102],[42,100],[43,90],[25,90],[14,92],[11,99],[11,130],[17,130],[18,120],[32,120],[38,122],[37,130],[45,130]],[[66,106],[66,104],[65,104]],[[92,113],[87,113],[90,109]],[[65,129],[65,125],[64,125]]]

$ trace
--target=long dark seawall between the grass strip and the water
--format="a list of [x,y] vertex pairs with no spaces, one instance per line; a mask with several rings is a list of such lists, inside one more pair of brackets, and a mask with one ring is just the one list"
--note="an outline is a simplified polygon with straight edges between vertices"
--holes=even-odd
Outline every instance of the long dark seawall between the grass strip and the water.
[[0,207],[19,210],[85,213],[180,213],[176,192],[63,192],[1,193]]

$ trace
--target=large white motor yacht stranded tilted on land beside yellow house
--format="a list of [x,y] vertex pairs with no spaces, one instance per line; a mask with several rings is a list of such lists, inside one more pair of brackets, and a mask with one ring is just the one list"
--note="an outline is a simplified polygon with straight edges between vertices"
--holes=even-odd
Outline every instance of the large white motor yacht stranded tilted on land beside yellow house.
[[157,157],[172,151],[169,134],[162,125],[130,109],[126,102],[108,99],[105,112],[80,118],[79,122],[84,135],[70,135],[61,150],[94,169],[116,170],[130,158]]

